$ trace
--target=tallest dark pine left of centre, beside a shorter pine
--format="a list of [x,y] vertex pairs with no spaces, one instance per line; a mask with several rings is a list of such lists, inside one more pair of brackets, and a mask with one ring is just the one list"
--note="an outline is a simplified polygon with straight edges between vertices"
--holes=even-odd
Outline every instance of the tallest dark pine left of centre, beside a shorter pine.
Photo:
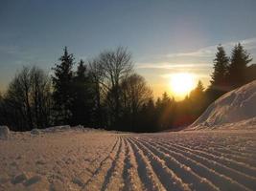
[[72,117],[71,107],[73,102],[72,80],[74,56],[64,48],[64,53],[58,59],[59,64],[55,65],[53,78],[53,99],[55,104],[55,120],[58,124],[70,123]]

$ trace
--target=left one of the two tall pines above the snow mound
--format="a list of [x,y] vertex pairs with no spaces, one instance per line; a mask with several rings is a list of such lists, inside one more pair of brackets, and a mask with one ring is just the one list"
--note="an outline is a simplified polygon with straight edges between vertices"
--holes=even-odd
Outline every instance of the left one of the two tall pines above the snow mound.
[[214,59],[214,72],[211,75],[211,88],[215,90],[224,90],[226,85],[226,75],[229,64],[229,58],[221,45],[217,48],[216,58]]

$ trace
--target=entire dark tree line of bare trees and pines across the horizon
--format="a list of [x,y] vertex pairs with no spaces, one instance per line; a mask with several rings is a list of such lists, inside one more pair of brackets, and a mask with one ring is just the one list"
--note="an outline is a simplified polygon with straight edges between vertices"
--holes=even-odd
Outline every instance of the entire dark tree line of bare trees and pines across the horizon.
[[0,95],[0,124],[14,131],[53,125],[156,132],[192,123],[219,96],[256,79],[256,65],[239,43],[228,57],[220,45],[211,84],[182,101],[164,93],[154,99],[145,78],[134,73],[131,53],[118,47],[90,60],[75,61],[65,47],[49,76],[24,67]]

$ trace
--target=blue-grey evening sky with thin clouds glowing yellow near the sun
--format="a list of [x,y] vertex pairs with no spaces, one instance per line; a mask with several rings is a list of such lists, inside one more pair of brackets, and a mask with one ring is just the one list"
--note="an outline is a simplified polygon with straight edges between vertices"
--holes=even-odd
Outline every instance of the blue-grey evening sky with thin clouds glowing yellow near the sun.
[[0,90],[22,66],[50,73],[64,46],[76,61],[127,47],[154,96],[175,73],[207,87],[219,44],[256,56],[255,19],[255,0],[0,0]]

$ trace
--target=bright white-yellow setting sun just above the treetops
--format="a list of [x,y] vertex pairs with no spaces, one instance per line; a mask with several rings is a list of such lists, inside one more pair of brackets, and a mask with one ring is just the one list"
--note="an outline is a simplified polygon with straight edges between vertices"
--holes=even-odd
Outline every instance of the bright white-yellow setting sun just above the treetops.
[[186,96],[195,88],[195,76],[189,73],[172,74],[170,85],[175,96]]

